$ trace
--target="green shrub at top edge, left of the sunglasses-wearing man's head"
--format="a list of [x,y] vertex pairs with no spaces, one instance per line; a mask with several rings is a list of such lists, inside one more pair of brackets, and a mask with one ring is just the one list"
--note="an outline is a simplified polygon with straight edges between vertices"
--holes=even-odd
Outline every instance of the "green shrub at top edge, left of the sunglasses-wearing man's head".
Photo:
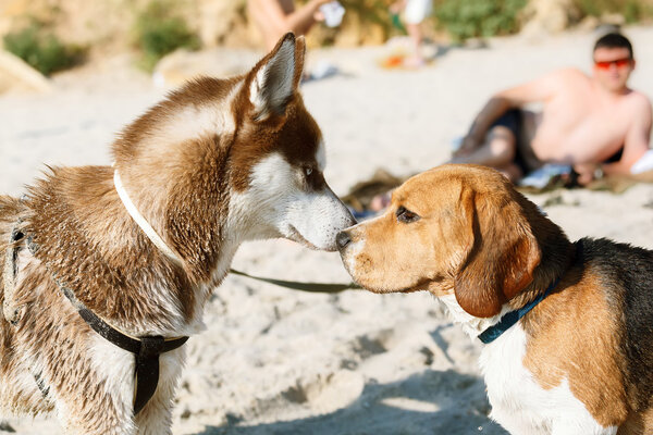
[[[591,1],[591,0],[588,0]],[[517,32],[517,14],[527,0],[438,0],[435,16],[456,40]]]

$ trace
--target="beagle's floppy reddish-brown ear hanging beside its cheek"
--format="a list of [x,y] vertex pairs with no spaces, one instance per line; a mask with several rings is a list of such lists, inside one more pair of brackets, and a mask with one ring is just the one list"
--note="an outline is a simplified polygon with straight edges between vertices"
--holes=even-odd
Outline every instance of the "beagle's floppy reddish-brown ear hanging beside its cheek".
[[469,189],[461,200],[473,241],[455,276],[454,291],[469,314],[491,318],[533,281],[541,250],[517,201],[492,196],[477,203]]

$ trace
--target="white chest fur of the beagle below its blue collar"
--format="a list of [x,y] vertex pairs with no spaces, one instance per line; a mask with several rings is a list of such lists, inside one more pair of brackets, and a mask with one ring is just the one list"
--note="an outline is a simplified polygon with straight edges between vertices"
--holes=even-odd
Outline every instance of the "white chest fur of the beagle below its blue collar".
[[567,380],[550,389],[538,384],[522,362],[526,344],[526,333],[517,323],[481,351],[490,417],[514,435],[615,435],[617,427],[601,426],[574,396]]

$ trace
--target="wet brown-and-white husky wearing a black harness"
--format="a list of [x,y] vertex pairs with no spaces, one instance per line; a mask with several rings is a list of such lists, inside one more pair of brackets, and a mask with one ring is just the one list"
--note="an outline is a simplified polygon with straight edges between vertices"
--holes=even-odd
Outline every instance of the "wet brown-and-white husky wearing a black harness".
[[335,250],[355,222],[322,175],[304,57],[287,34],[246,75],[198,78],[147,111],[112,167],[54,167],[23,200],[0,197],[0,412],[51,411],[66,434],[170,434],[184,347],[158,356],[135,412],[137,352],[81,313],[136,343],[174,341],[202,330],[243,241]]

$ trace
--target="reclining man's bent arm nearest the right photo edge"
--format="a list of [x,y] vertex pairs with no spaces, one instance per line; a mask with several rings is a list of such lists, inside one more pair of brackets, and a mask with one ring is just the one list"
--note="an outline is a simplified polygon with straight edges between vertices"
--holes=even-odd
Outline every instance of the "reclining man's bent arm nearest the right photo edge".
[[653,122],[651,102],[644,96],[638,95],[637,97],[639,98],[633,101],[632,123],[626,133],[621,159],[615,163],[601,165],[603,173],[606,175],[629,175],[632,165],[649,149],[651,125]]

